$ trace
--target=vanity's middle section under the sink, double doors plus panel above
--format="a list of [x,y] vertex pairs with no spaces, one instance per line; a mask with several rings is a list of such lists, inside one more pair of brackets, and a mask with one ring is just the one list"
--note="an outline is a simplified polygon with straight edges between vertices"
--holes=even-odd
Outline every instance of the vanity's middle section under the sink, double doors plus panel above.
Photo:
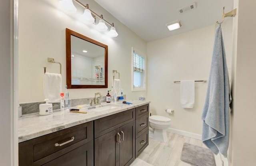
[[94,165],[129,166],[135,159],[135,109],[94,121]]

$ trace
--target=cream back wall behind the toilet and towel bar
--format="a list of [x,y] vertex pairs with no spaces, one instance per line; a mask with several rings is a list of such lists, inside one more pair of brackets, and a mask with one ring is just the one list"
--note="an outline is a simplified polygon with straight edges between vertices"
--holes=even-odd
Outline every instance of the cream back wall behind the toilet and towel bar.
[[[180,105],[180,83],[174,80],[208,80],[214,34],[218,25],[200,28],[148,43],[148,99],[153,115],[172,120],[171,128],[202,133],[201,114],[207,83],[195,83],[192,109]],[[231,71],[232,21],[222,24],[228,68]],[[174,109],[169,115],[164,110]]]

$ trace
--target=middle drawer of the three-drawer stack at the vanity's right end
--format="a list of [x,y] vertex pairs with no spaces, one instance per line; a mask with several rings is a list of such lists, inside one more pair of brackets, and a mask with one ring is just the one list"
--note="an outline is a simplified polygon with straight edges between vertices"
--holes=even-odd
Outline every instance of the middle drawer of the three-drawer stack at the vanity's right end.
[[136,119],[136,138],[148,130],[148,114]]

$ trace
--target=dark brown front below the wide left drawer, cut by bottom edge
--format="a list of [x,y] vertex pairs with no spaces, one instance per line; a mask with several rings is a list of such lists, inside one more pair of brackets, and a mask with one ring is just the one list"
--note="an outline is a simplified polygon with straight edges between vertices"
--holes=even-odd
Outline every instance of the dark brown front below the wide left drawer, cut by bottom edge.
[[42,166],[93,166],[93,141],[88,142]]

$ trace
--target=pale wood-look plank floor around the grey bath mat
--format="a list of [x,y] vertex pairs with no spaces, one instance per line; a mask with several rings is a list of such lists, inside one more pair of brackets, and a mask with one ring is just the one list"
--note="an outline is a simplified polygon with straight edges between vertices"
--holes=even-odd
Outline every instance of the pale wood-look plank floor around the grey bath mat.
[[[180,160],[184,142],[206,148],[202,140],[173,134],[167,132],[168,141],[160,142],[149,138],[149,145],[138,156],[141,160],[152,164],[153,166],[192,166]],[[217,160],[216,160],[217,159]],[[221,166],[218,156],[215,156],[216,166]]]

